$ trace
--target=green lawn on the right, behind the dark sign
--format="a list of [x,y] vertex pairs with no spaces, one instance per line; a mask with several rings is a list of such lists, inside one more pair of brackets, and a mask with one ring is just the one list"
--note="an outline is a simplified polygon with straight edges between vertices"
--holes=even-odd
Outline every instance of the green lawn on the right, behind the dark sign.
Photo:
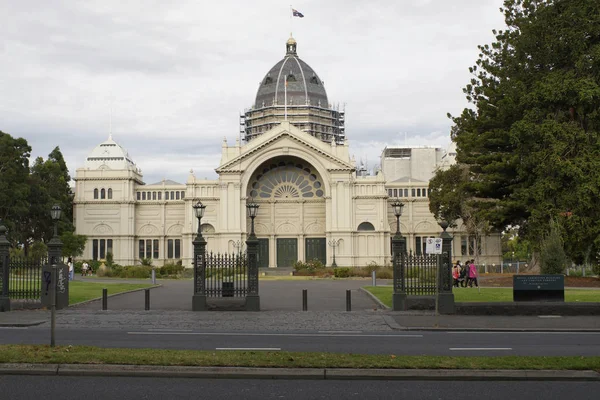
[[[383,304],[392,306],[391,286],[365,286]],[[511,288],[454,288],[456,302],[488,302],[513,301]],[[600,290],[565,289],[565,301],[568,302],[600,302]]]

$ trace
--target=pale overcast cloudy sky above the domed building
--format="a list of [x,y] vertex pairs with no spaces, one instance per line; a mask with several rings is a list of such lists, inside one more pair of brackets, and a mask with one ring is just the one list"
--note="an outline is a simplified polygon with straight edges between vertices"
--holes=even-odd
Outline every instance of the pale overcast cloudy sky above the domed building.
[[146,183],[217,177],[223,138],[285,55],[345,106],[350,154],[447,147],[468,107],[477,45],[503,29],[502,0],[0,0],[0,130],[32,158],[59,146],[71,176],[108,138]]

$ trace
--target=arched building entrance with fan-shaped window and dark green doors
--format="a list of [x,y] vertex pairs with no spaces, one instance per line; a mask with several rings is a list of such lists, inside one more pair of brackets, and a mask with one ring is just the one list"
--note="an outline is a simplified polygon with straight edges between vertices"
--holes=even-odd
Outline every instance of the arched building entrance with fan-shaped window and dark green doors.
[[246,195],[260,205],[259,266],[315,258],[326,263],[325,183],[313,165],[289,155],[268,159],[254,170]]

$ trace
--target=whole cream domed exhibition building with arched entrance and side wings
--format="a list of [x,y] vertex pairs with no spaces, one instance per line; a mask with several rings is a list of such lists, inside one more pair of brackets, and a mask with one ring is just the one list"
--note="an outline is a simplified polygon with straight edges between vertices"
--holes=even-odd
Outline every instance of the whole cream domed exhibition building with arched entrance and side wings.
[[[454,162],[455,151],[387,146],[380,168],[370,173],[350,156],[344,118],[290,38],[285,57],[262,78],[241,117],[242,140],[223,140],[217,179],[190,172],[184,183],[146,184],[112,136],[91,150],[75,176],[76,232],[88,238],[83,258],[110,252],[122,265],[149,258],[154,265],[180,260],[191,266],[198,201],[206,205],[201,231],[207,250],[221,253],[244,246],[246,204],[259,205],[260,267],[312,259],[331,266],[334,251],[339,266],[390,264],[394,200],[405,205],[400,231],[408,251],[424,252],[425,239],[442,231],[429,211],[428,182],[437,168]],[[454,260],[478,253],[480,263],[500,263],[499,234],[475,240],[460,221],[449,232]]]

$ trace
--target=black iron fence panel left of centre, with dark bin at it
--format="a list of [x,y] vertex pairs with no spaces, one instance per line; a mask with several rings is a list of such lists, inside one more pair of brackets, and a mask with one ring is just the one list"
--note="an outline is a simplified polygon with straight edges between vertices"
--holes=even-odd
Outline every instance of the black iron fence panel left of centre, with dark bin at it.
[[246,254],[208,253],[205,278],[208,297],[245,297],[248,294]]

